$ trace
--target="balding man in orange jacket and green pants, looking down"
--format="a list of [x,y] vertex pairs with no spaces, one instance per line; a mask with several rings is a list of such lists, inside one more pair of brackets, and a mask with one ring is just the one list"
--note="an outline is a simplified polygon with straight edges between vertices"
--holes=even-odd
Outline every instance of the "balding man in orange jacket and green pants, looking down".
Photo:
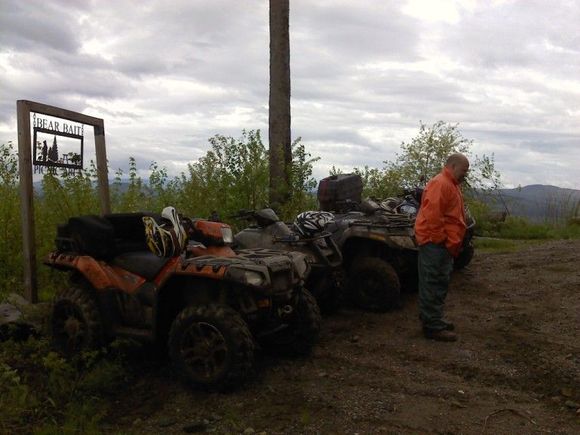
[[465,236],[465,212],[459,185],[469,171],[463,154],[447,158],[443,170],[433,177],[423,192],[415,221],[419,245],[419,313],[423,334],[437,341],[456,341],[453,323],[443,318],[453,257],[461,250]]

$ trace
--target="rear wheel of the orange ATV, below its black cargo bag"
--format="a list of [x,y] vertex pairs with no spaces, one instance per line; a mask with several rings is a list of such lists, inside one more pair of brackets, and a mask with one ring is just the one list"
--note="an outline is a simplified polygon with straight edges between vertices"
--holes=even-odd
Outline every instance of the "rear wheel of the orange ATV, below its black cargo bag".
[[51,326],[55,346],[67,355],[102,344],[101,316],[85,288],[59,291],[52,308]]

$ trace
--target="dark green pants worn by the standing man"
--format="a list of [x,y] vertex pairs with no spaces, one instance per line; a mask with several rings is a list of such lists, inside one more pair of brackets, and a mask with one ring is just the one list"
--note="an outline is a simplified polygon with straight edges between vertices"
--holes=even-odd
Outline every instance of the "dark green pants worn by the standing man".
[[419,246],[419,317],[423,328],[440,331],[446,328],[443,306],[453,269],[453,257],[444,245]]

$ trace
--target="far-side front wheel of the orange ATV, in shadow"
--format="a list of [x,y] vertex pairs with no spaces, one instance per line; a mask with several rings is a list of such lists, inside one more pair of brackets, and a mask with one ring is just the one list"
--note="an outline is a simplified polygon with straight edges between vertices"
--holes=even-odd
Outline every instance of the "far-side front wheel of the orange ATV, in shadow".
[[266,336],[262,344],[282,355],[307,355],[318,341],[321,322],[320,309],[312,293],[303,289],[289,316],[287,327]]

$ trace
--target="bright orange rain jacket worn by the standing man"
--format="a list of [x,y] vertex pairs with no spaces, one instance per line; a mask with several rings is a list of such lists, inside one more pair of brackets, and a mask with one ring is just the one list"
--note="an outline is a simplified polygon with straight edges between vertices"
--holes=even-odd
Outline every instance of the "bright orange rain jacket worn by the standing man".
[[466,228],[459,183],[450,169],[443,168],[425,187],[415,220],[415,238],[419,245],[445,243],[457,257]]

